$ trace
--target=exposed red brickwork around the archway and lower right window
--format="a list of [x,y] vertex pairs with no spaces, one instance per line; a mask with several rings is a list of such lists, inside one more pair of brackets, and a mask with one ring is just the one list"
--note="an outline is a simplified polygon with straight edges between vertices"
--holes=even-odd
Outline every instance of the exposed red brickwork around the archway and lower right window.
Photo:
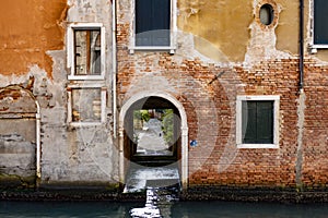
[[[189,185],[296,186],[297,57],[268,59],[250,66],[238,63],[221,66],[201,58],[167,52],[136,51],[130,55],[129,25],[119,23],[118,26],[119,102],[122,105],[138,92],[156,89],[169,93],[183,104],[188,138],[198,141],[197,147],[188,148]],[[316,65],[313,60],[305,64],[307,71]],[[326,70],[315,69],[316,74]],[[317,95],[325,93],[325,81],[326,77],[315,74],[306,77],[306,105],[325,102],[325,95]],[[321,85],[318,87],[317,84]],[[236,148],[237,95],[280,96],[279,149]],[[323,162],[323,159],[314,161],[316,157],[326,157],[326,113],[325,107],[309,106],[306,110],[305,128],[309,129],[304,135],[303,181],[305,185],[314,185],[327,181],[327,168],[313,166],[313,162]],[[312,140],[315,130],[319,132],[315,134],[316,140]]]

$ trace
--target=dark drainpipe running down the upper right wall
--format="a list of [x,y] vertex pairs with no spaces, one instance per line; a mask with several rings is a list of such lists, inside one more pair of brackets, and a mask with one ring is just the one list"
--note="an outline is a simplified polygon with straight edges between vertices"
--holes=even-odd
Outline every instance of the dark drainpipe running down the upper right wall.
[[300,0],[300,93],[304,92],[304,0]]

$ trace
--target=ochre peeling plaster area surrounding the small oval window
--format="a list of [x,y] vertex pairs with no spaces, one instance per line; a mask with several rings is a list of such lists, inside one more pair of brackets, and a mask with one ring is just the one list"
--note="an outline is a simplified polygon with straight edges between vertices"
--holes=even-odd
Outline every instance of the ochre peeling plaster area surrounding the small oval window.
[[[263,31],[256,9],[266,2],[277,4],[279,22]],[[255,59],[279,51],[297,55],[298,1],[178,1],[178,29],[192,34],[195,48],[215,61],[243,62],[254,47],[261,49]]]

